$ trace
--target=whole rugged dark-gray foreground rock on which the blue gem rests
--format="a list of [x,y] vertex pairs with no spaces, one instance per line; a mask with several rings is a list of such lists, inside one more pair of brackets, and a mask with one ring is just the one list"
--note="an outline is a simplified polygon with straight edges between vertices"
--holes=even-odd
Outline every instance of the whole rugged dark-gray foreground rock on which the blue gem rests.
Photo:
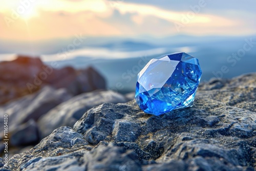
[[193,107],[161,116],[144,114],[135,100],[104,103],[6,169],[254,170],[255,99],[256,74],[247,74],[202,83]]

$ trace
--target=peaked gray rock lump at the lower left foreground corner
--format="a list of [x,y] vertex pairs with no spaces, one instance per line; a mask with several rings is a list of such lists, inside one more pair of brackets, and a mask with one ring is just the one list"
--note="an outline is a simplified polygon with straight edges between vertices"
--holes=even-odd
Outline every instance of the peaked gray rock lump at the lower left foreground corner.
[[[29,151],[14,155],[10,160],[8,169],[24,169],[31,163],[39,161],[40,158],[56,157],[65,154],[84,154],[92,147],[84,137],[72,130],[70,127],[59,127],[51,135],[41,140],[39,144]],[[75,154],[74,154],[75,155]]]

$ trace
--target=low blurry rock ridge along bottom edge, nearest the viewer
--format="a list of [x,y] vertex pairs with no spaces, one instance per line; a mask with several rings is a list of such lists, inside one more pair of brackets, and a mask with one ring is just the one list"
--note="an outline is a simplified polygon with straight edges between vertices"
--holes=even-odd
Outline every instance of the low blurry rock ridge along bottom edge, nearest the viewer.
[[[102,162],[104,161],[104,162]],[[92,151],[78,151],[50,157],[35,157],[20,165],[20,170],[142,170],[134,151],[110,144]]]

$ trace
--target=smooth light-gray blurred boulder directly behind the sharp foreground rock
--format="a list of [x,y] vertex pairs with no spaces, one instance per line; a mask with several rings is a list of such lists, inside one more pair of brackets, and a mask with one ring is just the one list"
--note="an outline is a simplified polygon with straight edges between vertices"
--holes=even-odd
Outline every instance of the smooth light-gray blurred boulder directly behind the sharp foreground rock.
[[39,118],[38,126],[42,138],[50,135],[60,126],[73,126],[84,112],[102,103],[123,103],[127,99],[113,91],[94,91],[83,93],[56,106]]

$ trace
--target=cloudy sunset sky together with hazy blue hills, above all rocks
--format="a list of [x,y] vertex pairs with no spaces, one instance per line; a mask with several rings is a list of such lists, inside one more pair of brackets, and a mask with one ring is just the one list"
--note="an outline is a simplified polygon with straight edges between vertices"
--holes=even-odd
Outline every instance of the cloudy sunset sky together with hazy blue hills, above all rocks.
[[[187,52],[202,81],[255,72],[256,2],[3,0],[0,60],[39,56],[54,68],[92,66],[109,89],[135,90],[146,61]],[[78,39],[77,39],[78,38]],[[142,60],[142,61],[140,61]]]

